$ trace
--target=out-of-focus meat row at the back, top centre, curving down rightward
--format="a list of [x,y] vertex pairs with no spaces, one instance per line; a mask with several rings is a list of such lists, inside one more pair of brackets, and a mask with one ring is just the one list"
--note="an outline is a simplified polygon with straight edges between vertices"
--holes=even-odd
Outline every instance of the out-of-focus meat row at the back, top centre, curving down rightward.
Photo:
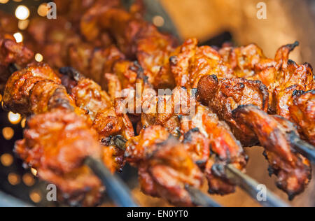
[[[137,5],[138,2],[134,8],[141,8]],[[122,7],[96,4],[83,15],[80,31],[88,41],[95,41],[99,34],[109,31],[120,51],[129,59],[137,59],[148,72],[148,80],[156,89],[174,87],[174,78],[165,64],[176,41],[144,21],[137,10],[127,12]]]

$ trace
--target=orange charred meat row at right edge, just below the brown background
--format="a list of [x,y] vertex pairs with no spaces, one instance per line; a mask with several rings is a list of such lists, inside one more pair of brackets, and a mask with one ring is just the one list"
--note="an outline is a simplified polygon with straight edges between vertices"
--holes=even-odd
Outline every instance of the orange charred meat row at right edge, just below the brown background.
[[[278,114],[291,120],[300,127],[300,133],[307,141],[314,144],[314,127],[307,127],[296,121],[297,113],[294,113],[293,106],[296,94],[302,91],[307,94],[314,90],[314,74],[310,64],[296,64],[288,59],[290,52],[298,45],[293,43],[284,45],[276,52],[275,59],[268,59],[263,55],[257,45],[248,45],[241,48],[223,48],[220,53],[225,62],[228,62],[235,70],[237,76],[243,78],[260,80],[269,90],[269,113]],[[309,108],[300,110],[307,122],[312,122],[314,115],[315,100],[311,97],[307,101]],[[309,118],[308,118],[309,117]]]

